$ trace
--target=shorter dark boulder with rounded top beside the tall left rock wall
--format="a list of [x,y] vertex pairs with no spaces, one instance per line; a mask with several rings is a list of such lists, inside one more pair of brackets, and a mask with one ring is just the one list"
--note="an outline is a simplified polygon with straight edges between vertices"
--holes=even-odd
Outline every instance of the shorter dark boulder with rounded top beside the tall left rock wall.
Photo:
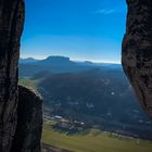
[[40,152],[42,101],[30,90],[20,86],[17,127],[12,152]]

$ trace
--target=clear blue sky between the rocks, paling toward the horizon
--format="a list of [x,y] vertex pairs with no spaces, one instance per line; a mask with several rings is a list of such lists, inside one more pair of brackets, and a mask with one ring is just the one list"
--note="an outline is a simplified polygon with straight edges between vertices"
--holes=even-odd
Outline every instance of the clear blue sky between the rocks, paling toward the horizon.
[[21,56],[119,62],[125,0],[26,0]]

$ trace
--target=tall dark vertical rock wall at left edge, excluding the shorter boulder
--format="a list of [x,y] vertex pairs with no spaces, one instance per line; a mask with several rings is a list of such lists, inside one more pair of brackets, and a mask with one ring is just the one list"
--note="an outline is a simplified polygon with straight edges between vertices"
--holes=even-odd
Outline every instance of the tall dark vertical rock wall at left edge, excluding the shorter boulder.
[[9,152],[16,126],[17,60],[23,0],[0,0],[0,151]]

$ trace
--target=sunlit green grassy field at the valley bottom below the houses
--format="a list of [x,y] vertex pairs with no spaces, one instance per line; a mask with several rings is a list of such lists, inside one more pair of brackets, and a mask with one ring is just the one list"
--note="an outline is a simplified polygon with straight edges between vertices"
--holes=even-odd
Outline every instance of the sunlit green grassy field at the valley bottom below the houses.
[[118,139],[99,132],[67,136],[43,125],[42,142],[73,152],[152,152],[152,143],[138,139]]

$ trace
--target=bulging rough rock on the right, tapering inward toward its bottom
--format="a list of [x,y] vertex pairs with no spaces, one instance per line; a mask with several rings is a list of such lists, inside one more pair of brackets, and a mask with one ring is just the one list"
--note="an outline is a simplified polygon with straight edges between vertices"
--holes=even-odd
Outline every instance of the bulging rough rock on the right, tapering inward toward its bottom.
[[140,103],[152,117],[152,0],[127,0],[122,63]]

